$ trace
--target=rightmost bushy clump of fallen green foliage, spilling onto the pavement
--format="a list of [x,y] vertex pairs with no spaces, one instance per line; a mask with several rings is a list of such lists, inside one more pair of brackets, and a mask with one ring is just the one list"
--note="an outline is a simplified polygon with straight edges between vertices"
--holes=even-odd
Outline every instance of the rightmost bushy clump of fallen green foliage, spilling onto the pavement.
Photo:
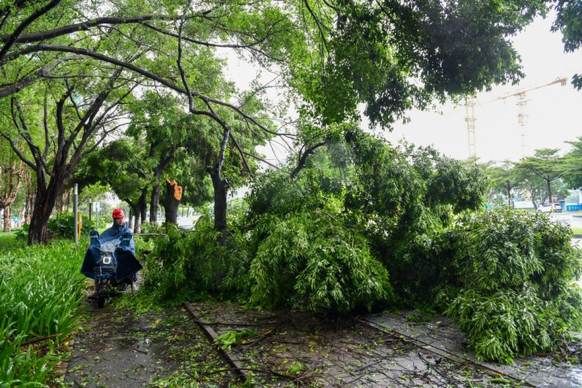
[[451,270],[462,285],[446,313],[459,319],[478,358],[509,363],[581,327],[574,282],[582,261],[569,227],[545,215],[488,211],[466,216],[454,233]]

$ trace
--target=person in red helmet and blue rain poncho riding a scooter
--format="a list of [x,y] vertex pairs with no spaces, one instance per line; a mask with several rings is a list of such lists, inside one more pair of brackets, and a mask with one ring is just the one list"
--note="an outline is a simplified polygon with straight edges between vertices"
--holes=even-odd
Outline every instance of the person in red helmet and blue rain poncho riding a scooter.
[[[85,255],[85,260],[83,266],[81,267],[81,273],[91,279],[95,279],[93,274],[93,268],[95,266],[95,259],[100,259],[100,247],[105,244],[118,243],[115,250],[116,256],[116,279],[125,280],[132,287],[132,291],[137,291],[137,286],[135,284],[136,273],[141,269],[141,264],[136,259],[136,248],[133,243],[133,234],[131,229],[123,223],[123,210],[114,209],[112,213],[113,225],[108,229],[104,230],[98,237],[97,232],[94,236],[91,236],[91,246],[87,250]],[[95,239],[95,241],[93,241]],[[123,240],[123,241],[122,241]],[[129,241],[127,241],[129,240]],[[95,280],[95,293],[99,287],[99,282]],[[95,293],[91,294],[89,297],[95,296]]]

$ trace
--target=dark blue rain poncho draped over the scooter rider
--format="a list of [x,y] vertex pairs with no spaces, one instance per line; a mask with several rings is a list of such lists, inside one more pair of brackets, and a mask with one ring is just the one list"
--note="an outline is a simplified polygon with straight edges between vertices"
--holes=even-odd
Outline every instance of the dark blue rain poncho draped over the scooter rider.
[[113,269],[116,280],[133,276],[142,267],[136,258],[136,247],[129,227],[115,223],[101,235],[97,231],[90,234],[91,245],[87,249],[81,273],[95,279],[94,269],[100,266]]

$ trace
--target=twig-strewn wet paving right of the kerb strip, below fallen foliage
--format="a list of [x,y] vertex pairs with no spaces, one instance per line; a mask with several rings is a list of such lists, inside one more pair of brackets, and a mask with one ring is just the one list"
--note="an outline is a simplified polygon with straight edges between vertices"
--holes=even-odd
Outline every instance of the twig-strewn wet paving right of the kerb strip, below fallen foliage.
[[[456,354],[446,348],[445,343],[452,348],[462,341],[450,322],[441,322],[448,329],[439,330],[407,322],[403,315],[330,318],[225,304],[194,306],[217,334],[247,333],[230,351],[252,369],[257,386],[531,386],[522,380],[525,376],[467,357],[462,342],[458,346],[463,351]],[[431,339],[433,346],[423,339]]]

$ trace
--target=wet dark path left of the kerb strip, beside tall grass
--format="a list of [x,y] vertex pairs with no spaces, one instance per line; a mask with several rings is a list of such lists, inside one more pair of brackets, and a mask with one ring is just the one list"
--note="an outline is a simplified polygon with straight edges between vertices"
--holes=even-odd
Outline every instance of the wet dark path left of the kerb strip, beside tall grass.
[[183,309],[135,316],[127,309],[105,307],[88,311],[86,317],[86,331],[77,334],[68,359],[64,386],[189,386],[180,376],[191,386],[203,386],[208,379],[198,371],[205,368],[223,369],[212,375],[214,386],[236,382]]

